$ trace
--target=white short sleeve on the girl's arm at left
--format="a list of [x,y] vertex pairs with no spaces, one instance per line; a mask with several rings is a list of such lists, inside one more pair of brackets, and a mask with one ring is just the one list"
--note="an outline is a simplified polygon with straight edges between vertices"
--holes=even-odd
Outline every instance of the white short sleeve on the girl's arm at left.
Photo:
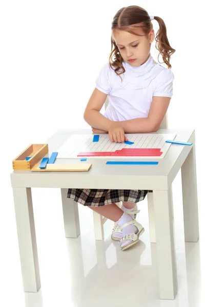
[[95,80],[96,89],[99,91],[109,94],[111,91],[111,76],[110,76],[109,63],[103,65],[103,68],[100,69],[99,75]]

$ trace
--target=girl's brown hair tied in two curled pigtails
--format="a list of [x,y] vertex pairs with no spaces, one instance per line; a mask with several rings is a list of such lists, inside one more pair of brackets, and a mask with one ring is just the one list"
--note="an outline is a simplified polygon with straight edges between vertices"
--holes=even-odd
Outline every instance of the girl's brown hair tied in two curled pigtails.
[[[168,68],[172,68],[170,64],[170,57],[176,50],[170,46],[167,37],[167,29],[163,19],[158,16],[154,16],[154,19],[157,20],[159,24],[159,30],[157,31],[155,38],[155,47],[159,51],[159,54],[162,55],[162,63],[166,63]],[[109,56],[109,65],[110,68],[112,68],[111,65],[115,67],[114,71],[118,76],[125,73],[125,69],[122,65],[123,58],[121,57],[117,45],[113,39],[113,32],[114,30],[122,30],[138,36],[144,36],[138,33],[138,28],[141,28],[142,31],[145,33],[144,35],[147,37],[150,31],[153,29],[149,14],[145,9],[136,5],[131,5],[125,8],[121,8],[119,11],[117,11],[112,21],[111,53]],[[113,56],[114,61],[112,60]],[[122,71],[118,74],[117,72],[120,71],[120,69],[122,69]]]

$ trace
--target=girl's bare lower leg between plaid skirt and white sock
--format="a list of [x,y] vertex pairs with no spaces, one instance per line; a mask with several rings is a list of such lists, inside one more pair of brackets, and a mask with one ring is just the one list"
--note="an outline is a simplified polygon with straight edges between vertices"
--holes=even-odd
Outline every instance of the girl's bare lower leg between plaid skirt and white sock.
[[93,211],[109,218],[109,220],[113,222],[117,222],[124,213],[124,211],[122,211],[116,204],[109,204],[98,207],[93,207],[93,206],[88,206],[88,207]]

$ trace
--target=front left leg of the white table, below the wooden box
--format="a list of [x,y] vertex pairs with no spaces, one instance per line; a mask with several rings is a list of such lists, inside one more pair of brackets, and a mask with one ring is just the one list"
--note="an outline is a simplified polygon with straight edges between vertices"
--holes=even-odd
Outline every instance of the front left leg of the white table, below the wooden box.
[[38,292],[40,274],[31,188],[13,187],[20,264],[25,292]]

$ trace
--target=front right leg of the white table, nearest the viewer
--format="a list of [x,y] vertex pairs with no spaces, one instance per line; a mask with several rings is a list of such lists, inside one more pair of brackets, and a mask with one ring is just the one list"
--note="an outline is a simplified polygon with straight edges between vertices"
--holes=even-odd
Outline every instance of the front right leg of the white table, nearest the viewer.
[[176,255],[174,247],[174,219],[172,191],[153,190],[159,295],[174,299],[177,294]]

